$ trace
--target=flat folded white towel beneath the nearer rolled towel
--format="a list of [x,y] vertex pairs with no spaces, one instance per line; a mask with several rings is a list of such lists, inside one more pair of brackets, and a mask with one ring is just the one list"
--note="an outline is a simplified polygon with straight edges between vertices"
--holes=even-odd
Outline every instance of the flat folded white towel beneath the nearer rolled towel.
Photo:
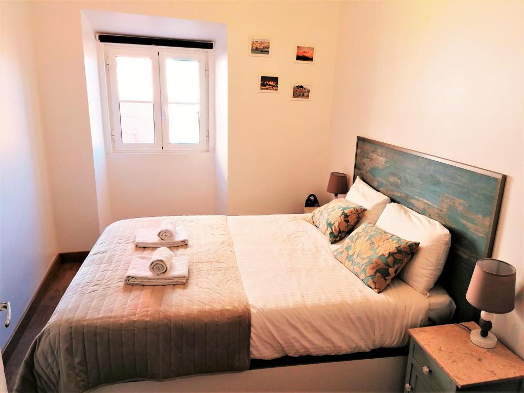
[[150,257],[137,255],[131,260],[124,282],[131,285],[176,285],[185,284],[188,279],[188,257],[173,258],[165,274],[158,276],[149,271]]

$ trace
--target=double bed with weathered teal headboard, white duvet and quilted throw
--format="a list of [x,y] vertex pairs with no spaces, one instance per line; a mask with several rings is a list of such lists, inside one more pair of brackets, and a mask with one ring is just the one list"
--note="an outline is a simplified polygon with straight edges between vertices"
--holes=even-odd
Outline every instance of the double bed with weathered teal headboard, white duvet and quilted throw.
[[130,287],[123,284],[130,258],[152,253],[135,248],[134,233],[163,217],[123,220],[91,250],[31,345],[15,391],[86,391],[241,371],[257,359],[398,348],[408,328],[474,319],[463,287],[476,259],[491,252],[504,176],[365,138],[357,140],[354,172],[452,232],[442,285],[429,297],[402,280],[369,290],[302,214],[176,217],[191,239],[174,250],[190,258],[188,282]]

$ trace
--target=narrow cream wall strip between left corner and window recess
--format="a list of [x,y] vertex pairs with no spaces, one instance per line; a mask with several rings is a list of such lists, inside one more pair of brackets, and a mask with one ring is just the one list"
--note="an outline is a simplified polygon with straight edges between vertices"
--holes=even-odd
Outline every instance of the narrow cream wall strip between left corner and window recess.
[[[100,234],[95,170],[85,85],[80,12],[43,13],[46,2],[30,3],[38,45],[34,64],[42,127],[46,136],[52,207],[60,252],[89,250]],[[62,2],[65,8],[68,2]],[[57,7],[60,8],[60,7]],[[70,29],[71,24],[74,26]]]

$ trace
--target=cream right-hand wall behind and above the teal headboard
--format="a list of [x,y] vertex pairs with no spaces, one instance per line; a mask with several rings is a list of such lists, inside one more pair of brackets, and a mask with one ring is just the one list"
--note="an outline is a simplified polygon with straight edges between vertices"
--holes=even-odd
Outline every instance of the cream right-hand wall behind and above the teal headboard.
[[329,170],[356,136],[508,176],[493,256],[517,267],[516,310],[494,332],[524,356],[524,3],[344,2]]

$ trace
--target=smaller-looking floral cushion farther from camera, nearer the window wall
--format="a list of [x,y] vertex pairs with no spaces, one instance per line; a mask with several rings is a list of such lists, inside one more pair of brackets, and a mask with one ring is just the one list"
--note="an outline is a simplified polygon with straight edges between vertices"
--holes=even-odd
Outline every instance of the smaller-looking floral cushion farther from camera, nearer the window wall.
[[311,221],[328,236],[330,243],[336,243],[353,228],[365,211],[361,205],[339,198],[316,209]]

